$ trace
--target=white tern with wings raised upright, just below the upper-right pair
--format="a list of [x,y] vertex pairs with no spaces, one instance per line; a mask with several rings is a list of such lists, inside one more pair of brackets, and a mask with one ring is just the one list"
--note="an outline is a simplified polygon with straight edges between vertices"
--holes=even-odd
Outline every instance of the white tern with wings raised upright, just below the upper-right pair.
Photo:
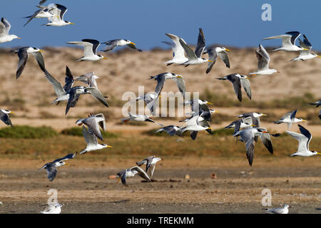
[[258,71],[249,73],[250,76],[263,76],[270,75],[272,73],[280,73],[275,69],[269,68],[270,56],[262,45],[259,45],[259,48],[255,50],[256,58],[258,58]]

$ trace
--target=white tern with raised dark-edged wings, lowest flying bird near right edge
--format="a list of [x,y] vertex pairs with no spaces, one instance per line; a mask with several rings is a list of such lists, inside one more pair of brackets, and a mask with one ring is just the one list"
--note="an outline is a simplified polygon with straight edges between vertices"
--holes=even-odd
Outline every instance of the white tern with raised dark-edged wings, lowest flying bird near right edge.
[[310,151],[309,144],[312,139],[312,135],[306,128],[303,128],[302,125],[299,124],[298,126],[301,134],[293,133],[292,131],[285,131],[288,135],[291,135],[293,138],[299,141],[297,152],[290,156],[310,157],[312,155],[321,155],[320,152],[315,150]]

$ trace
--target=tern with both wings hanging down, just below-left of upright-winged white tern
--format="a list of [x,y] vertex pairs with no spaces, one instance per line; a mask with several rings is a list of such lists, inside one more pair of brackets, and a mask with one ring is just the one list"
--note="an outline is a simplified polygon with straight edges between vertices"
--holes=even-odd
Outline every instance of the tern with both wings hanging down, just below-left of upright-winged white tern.
[[233,88],[234,88],[235,94],[238,96],[238,100],[242,101],[241,86],[243,86],[246,94],[248,95],[248,98],[251,99],[252,93],[251,93],[250,81],[248,80],[248,76],[243,76],[238,73],[233,73],[228,76],[224,76],[223,78],[216,78],[216,79],[230,81],[233,84]]

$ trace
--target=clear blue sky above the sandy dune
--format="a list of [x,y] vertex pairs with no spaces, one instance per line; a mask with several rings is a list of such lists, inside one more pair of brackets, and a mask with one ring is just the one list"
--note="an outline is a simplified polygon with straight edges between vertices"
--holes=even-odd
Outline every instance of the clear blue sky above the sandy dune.
[[[36,11],[39,0],[1,1],[0,16],[11,23],[11,32],[21,37],[0,47],[67,46],[68,41],[94,38],[108,41],[126,38],[138,48],[167,48],[161,41],[170,41],[165,33],[181,36],[187,43],[197,42],[198,28],[203,28],[207,45],[280,46],[280,40],[262,41],[287,31],[304,33],[321,50],[321,1],[237,1],[237,0],[48,0],[68,8],[64,19],[75,25],[41,26],[46,19],[34,19],[23,26]],[[272,21],[263,21],[263,4],[272,6]],[[298,44],[298,43],[297,43]]]

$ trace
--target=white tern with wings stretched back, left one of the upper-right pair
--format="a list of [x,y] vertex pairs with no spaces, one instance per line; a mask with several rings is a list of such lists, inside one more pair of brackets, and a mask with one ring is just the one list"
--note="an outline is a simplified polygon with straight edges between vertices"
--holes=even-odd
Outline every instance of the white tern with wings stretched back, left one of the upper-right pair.
[[298,31],[289,31],[285,33],[284,35],[280,36],[270,36],[267,38],[263,38],[264,40],[270,40],[270,39],[275,39],[275,38],[282,38],[282,46],[280,48],[276,48],[273,51],[302,51],[306,50],[308,51],[307,48],[302,48],[300,46],[295,45],[295,41],[298,36],[300,36],[300,32]]

